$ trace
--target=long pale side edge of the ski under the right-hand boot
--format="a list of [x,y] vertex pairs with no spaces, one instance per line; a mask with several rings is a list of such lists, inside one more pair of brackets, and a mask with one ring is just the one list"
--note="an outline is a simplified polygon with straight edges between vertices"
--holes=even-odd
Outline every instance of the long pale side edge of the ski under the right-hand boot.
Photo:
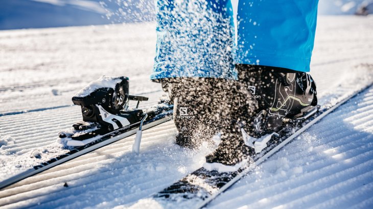
[[344,98],[341,101],[339,101],[338,103],[336,103],[333,107],[329,108],[327,111],[325,111],[321,115],[317,116],[314,120],[310,121],[309,123],[307,123],[307,125],[305,125],[304,127],[300,128],[299,130],[297,130],[297,132],[295,132],[289,138],[287,138],[286,140],[284,140],[282,143],[278,144],[276,147],[274,147],[269,152],[267,152],[265,155],[263,155],[261,158],[259,158],[257,161],[255,161],[252,165],[250,165],[249,167],[247,167],[244,171],[242,171],[241,173],[239,173],[236,177],[234,177],[226,185],[224,185],[219,190],[219,192],[217,192],[216,194],[213,194],[210,197],[206,198],[200,204],[197,204],[196,207],[194,207],[194,208],[199,209],[199,208],[204,207],[206,204],[208,204],[209,202],[211,202],[212,200],[214,200],[218,195],[220,195],[225,190],[227,190],[229,187],[231,187],[232,185],[234,185],[238,180],[240,180],[243,176],[245,176],[248,172],[250,172],[254,167],[256,167],[256,166],[260,165],[261,163],[263,163],[265,160],[267,160],[269,158],[269,156],[271,156],[272,154],[274,154],[275,152],[277,152],[279,149],[281,149],[282,147],[284,147],[286,144],[288,144],[290,141],[292,141],[295,137],[297,137],[300,134],[302,134],[303,132],[305,132],[305,130],[307,130],[308,128],[310,128],[313,124],[317,123],[323,117],[327,116],[329,113],[333,112],[335,109],[337,109],[338,107],[340,107],[341,105],[343,105],[344,103],[346,103],[349,99],[351,99],[351,98],[359,95],[361,92],[367,90],[372,85],[373,85],[373,82],[370,83],[370,84],[368,84],[367,86],[364,86],[364,87],[362,87],[362,88],[360,88],[360,89],[352,92],[346,98]]

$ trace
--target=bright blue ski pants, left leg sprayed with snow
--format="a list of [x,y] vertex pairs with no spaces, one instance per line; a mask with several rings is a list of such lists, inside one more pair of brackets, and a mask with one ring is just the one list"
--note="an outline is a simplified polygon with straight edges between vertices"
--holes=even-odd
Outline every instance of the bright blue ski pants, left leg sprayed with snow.
[[[152,80],[237,79],[234,64],[310,71],[318,0],[158,0]],[[236,25],[235,25],[236,24]]]

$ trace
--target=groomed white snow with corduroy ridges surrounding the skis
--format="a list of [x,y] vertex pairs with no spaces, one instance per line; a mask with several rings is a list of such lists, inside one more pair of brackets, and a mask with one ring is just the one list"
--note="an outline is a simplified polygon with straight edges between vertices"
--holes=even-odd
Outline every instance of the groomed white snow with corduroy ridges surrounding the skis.
[[[0,32],[0,180],[64,153],[59,130],[81,120],[71,97],[103,74],[128,76],[130,93],[163,93],[149,81],[153,23]],[[319,102],[371,82],[373,17],[321,16],[311,74]],[[53,93],[58,92],[58,93]],[[133,104],[134,105],[134,104]],[[373,88],[348,101],[207,205],[212,208],[372,208]],[[161,206],[151,194],[199,168],[212,148],[175,145],[168,122],[0,190],[4,208]],[[64,187],[67,186],[67,187]],[[184,205],[185,206],[185,205]],[[181,205],[173,205],[180,207]],[[186,205],[185,207],[193,207]]]

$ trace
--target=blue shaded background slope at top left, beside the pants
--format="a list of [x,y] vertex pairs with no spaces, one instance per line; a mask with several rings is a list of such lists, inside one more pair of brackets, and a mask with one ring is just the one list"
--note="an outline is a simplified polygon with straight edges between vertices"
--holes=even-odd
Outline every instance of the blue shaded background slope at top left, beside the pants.
[[0,30],[154,20],[150,0],[0,0]]

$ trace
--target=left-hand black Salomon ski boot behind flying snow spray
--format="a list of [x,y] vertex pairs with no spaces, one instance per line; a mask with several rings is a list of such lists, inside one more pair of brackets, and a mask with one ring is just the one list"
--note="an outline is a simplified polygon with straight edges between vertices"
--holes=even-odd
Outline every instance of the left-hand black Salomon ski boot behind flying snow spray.
[[176,144],[197,148],[212,142],[220,127],[220,117],[227,115],[221,89],[227,81],[213,78],[176,78],[162,81],[162,87],[174,101],[174,121],[178,131]]

